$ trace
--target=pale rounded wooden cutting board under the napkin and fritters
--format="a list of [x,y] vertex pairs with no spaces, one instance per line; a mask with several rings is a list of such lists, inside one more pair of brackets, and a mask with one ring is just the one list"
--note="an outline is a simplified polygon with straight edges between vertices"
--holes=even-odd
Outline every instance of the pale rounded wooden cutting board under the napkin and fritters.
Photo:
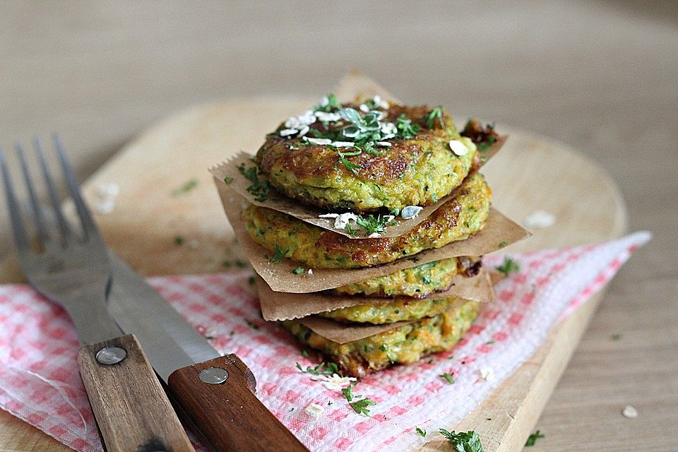
[[[335,93],[380,93],[379,85],[350,73]],[[126,145],[85,183],[85,197],[97,200],[96,187],[120,187],[114,212],[97,215],[108,244],[143,275],[228,271],[224,263],[242,259],[222,211],[208,167],[246,150],[251,153],[281,119],[316,99],[261,97],[201,105],[175,114]],[[456,118],[461,124],[465,118]],[[549,138],[499,124],[510,138],[484,167],[494,206],[520,222],[535,210],[556,215],[552,227],[503,251],[599,242],[626,230],[626,209],[607,174],[581,153]],[[68,143],[66,143],[68,145]],[[185,190],[182,187],[194,186]],[[182,244],[177,244],[181,237]],[[10,256],[0,263],[0,282],[23,278]],[[485,451],[520,451],[578,344],[601,295],[554,328],[547,343],[458,426],[475,429]],[[261,382],[260,382],[261,383]],[[487,421],[491,418],[491,421]],[[0,416],[0,450],[68,450],[14,420]],[[424,451],[447,451],[442,437]]]

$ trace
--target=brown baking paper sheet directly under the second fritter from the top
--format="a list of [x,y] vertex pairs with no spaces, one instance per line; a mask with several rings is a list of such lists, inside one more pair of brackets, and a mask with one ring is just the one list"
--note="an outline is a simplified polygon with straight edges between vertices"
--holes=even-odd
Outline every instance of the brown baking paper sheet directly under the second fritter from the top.
[[312,275],[307,272],[295,275],[292,270],[299,267],[298,262],[289,258],[283,259],[280,263],[269,262],[265,256],[269,255],[270,251],[249,238],[249,234],[247,234],[242,220],[240,220],[240,212],[247,202],[226,184],[217,184],[217,188],[226,216],[245,256],[256,273],[261,275],[261,278],[266,280],[266,283],[275,292],[307,293],[333,289],[334,287],[388,275],[388,273],[394,273],[403,268],[439,261],[444,258],[482,256],[530,236],[528,230],[509,220],[498,210],[490,208],[485,227],[468,239],[452,242],[441,248],[427,249],[415,254],[415,256],[400,258],[397,261],[384,263],[380,266],[351,269],[314,268]]

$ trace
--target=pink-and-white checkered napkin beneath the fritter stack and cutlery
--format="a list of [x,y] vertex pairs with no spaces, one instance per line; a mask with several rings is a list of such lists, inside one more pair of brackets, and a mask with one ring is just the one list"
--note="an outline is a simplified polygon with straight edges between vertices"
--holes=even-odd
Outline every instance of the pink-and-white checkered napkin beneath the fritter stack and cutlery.
[[[637,232],[614,242],[513,255],[521,270],[497,285],[496,302],[453,350],[359,382],[355,392],[377,402],[371,417],[295,367],[314,363],[283,329],[261,320],[250,273],[151,283],[198,331],[215,335],[218,350],[246,362],[258,397],[311,451],[404,451],[426,441],[415,426],[451,429],[535,352],[561,315],[605,285],[648,239],[648,232]],[[485,262],[496,266],[501,257]],[[0,286],[0,331],[1,408],[77,451],[101,451],[78,375],[76,331],[64,310],[25,285]],[[481,369],[494,379],[482,379]],[[441,379],[445,372],[456,383]],[[324,407],[323,414],[309,415],[310,403]]]

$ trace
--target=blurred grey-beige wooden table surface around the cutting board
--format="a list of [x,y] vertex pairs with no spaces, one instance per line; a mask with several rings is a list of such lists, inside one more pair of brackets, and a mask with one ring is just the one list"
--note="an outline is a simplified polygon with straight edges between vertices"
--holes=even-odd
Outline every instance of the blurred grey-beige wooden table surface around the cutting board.
[[[407,102],[558,138],[607,170],[630,230],[654,239],[609,286],[531,450],[678,450],[678,6],[414,5],[1,3],[0,144],[58,130],[84,177],[176,109],[319,96],[352,66]],[[2,215],[2,254],[6,234]],[[42,436],[0,414],[1,451]]]

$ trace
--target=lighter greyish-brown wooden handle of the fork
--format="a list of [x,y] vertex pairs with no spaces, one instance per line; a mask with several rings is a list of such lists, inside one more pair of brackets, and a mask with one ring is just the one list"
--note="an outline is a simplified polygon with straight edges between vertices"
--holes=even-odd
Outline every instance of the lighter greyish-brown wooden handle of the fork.
[[107,452],[195,452],[133,334],[86,345],[78,364]]

